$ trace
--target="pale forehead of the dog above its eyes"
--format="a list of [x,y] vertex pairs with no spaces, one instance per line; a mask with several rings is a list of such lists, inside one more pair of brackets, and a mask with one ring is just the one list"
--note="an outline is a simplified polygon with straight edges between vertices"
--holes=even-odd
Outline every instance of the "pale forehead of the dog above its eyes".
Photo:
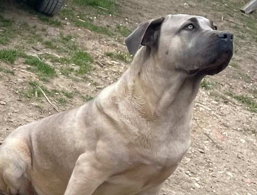
[[213,22],[202,16],[191,16],[186,14],[177,14],[177,15],[167,15],[165,16],[164,25],[169,25],[173,28],[180,28],[185,23],[195,23],[197,22],[202,29],[212,29]]

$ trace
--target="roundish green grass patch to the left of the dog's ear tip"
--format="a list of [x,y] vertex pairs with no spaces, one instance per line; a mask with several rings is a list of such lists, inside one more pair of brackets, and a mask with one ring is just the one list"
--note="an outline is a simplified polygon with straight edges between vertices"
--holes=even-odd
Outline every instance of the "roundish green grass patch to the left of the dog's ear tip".
[[78,50],[73,54],[71,61],[79,66],[77,73],[81,75],[92,70],[91,64],[94,62],[94,59],[89,53]]

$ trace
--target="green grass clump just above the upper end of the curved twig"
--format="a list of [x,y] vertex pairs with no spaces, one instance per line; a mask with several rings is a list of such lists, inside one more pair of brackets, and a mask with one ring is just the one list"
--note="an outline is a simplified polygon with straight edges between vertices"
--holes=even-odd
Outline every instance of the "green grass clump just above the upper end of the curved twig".
[[56,75],[55,69],[35,56],[27,56],[25,63],[30,65],[27,69],[33,72],[39,72],[40,76],[53,77]]

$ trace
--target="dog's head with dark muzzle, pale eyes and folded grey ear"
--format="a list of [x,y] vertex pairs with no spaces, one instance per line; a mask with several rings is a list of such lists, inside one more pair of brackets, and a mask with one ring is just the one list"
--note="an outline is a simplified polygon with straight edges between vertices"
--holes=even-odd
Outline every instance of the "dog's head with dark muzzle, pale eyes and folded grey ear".
[[142,22],[125,40],[135,54],[139,45],[168,69],[188,75],[214,75],[233,55],[233,34],[217,30],[209,19],[184,14]]

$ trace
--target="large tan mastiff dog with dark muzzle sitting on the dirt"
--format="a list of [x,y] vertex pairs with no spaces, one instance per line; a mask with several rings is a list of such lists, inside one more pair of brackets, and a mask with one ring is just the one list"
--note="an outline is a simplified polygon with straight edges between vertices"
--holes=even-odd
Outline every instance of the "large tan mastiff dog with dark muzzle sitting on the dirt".
[[20,195],[157,195],[190,146],[194,98],[222,71],[233,35],[201,16],[143,22],[134,60],[94,100],[14,130],[0,146],[0,190]]

